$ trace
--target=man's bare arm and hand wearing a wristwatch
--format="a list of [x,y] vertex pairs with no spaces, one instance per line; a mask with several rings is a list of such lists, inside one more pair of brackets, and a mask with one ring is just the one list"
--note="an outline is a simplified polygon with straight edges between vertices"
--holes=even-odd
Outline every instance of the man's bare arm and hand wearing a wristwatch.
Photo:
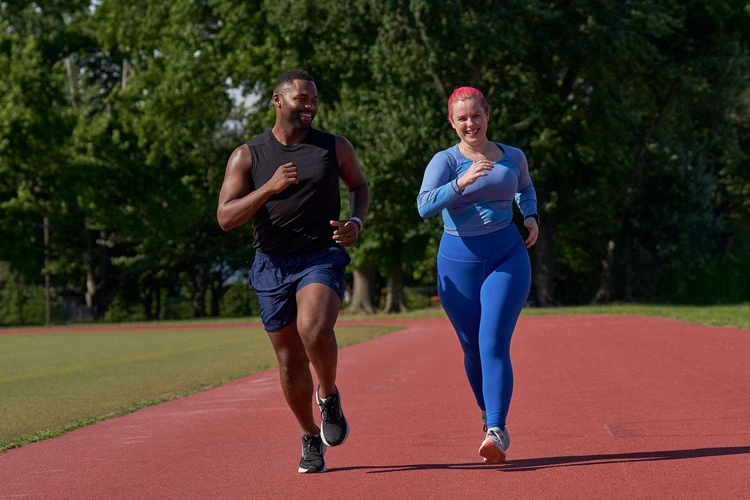
[[[370,206],[370,188],[359,166],[354,147],[344,137],[336,136],[336,156],[339,159],[339,177],[349,190],[349,216],[356,217],[364,223]],[[331,225],[338,227],[333,234],[336,243],[347,247],[356,243],[360,231],[357,223],[331,221]]]

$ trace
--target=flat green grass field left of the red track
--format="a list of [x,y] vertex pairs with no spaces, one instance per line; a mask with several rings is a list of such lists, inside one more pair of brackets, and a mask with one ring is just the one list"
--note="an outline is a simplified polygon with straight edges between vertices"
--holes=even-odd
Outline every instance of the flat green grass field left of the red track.
[[[336,335],[346,346],[396,329]],[[275,366],[261,328],[0,335],[0,452]]]

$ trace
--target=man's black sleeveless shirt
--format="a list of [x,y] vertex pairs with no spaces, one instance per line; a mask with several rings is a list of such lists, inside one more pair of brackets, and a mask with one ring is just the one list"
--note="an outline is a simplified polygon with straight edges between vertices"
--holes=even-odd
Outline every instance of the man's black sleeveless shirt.
[[255,213],[253,247],[271,255],[302,255],[334,245],[330,221],[339,220],[341,212],[336,137],[311,128],[302,142],[285,146],[269,129],[247,145],[253,190],[284,163],[294,162],[299,179]]

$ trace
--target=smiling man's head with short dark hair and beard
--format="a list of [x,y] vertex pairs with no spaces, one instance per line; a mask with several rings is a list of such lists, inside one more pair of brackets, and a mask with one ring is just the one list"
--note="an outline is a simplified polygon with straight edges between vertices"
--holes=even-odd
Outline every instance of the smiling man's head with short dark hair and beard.
[[304,71],[279,75],[273,90],[276,121],[282,119],[295,128],[308,129],[318,113],[318,89]]

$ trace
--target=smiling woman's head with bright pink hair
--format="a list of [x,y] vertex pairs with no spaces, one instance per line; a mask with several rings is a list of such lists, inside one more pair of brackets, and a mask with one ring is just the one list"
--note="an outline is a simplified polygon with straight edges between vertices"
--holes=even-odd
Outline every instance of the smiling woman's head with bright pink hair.
[[459,87],[448,98],[448,121],[462,142],[480,146],[487,139],[490,107],[473,87]]

